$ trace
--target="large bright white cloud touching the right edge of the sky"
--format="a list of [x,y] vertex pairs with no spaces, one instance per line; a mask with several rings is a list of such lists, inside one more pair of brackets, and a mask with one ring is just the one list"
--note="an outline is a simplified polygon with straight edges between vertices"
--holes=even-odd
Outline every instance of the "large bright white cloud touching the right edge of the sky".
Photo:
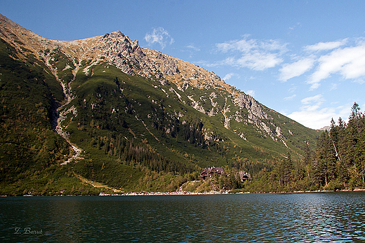
[[[354,46],[350,46],[350,43]],[[361,83],[365,78],[365,41],[364,39],[343,39],[340,41],[319,42],[303,47],[307,55],[295,56],[297,61],[282,64],[279,81],[286,82],[312,70],[306,83],[310,90],[316,90],[321,81],[339,74],[344,79]],[[321,51],[321,53],[319,53]],[[316,53],[314,53],[316,52]],[[331,90],[336,89],[332,85]]]

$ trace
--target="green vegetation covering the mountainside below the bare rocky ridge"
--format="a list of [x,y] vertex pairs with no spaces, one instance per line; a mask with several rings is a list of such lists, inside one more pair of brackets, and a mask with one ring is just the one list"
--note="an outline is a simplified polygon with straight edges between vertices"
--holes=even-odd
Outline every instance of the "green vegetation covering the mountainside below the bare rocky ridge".
[[[124,74],[105,57],[98,63],[78,60],[60,48],[39,50],[48,67],[25,44],[16,43],[21,47],[0,42],[0,195],[165,192],[182,185],[199,192],[318,187],[310,180],[291,186],[293,178],[305,181],[305,166],[312,169],[310,162],[300,167],[296,161],[306,158],[306,148],[314,149],[317,132],[265,106],[268,129],[275,134],[281,127],[287,145],[239,119],[232,118],[227,129],[225,116],[240,114],[247,120],[248,111],[234,104],[226,90],[189,87],[183,92],[174,83]],[[188,96],[206,112],[229,109],[225,116],[208,116],[192,108]],[[57,109],[67,140],[55,132]],[[74,154],[71,144],[81,149],[81,157],[61,165]],[[281,161],[287,151],[290,156]],[[225,168],[229,176],[185,184],[212,166]],[[242,183],[242,170],[253,180]],[[331,176],[325,174],[328,183]],[[272,183],[265,186],[268,180]]]

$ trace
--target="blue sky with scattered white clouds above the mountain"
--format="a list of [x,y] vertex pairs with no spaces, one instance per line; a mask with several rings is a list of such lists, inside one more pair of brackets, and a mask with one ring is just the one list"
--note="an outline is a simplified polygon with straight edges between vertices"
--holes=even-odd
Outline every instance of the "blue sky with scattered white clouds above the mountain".
[[0,13],[48,39],[120,30],[310,128],[365,109],[365,1],[0,0]]

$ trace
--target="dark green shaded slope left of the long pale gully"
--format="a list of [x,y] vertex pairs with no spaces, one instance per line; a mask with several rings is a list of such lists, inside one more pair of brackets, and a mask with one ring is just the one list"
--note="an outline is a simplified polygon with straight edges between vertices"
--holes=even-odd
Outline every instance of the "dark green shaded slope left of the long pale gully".
[[53,195],[65,188],[89,194],[91,186],[81,185],[68,167],[59,165],[70,152],[51,127],[62,87],[29,50],[22,50],[0,40],[0,194]]

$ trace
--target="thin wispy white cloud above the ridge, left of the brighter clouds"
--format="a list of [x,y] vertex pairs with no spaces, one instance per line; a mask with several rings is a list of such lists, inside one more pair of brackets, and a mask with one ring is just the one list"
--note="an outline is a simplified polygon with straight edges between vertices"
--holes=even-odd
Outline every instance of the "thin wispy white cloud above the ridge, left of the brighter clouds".
[[[283,62],[281,55],[286,52],[286,44],[277,40],[258,41],[247,38],[245,36],[241,40],[217,43],[216,46],[222,53],[234,53],[220,64],[263,71]],[[241,57],[236,57],[237,52],[241,53]]]

